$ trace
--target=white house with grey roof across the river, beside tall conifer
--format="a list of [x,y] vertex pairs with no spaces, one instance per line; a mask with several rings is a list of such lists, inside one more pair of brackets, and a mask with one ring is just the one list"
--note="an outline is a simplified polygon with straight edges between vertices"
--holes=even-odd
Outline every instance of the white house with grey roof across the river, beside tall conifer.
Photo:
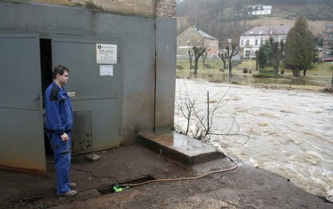
[[239,51],[244,58],[255,57],[256,50],[259,50],[260,45],[266,40],[273,37],[273,40],[286,42],[287,34],[291,26],[289,25],[270,25],[257,26],[251,30],[247,30],[239,37]]

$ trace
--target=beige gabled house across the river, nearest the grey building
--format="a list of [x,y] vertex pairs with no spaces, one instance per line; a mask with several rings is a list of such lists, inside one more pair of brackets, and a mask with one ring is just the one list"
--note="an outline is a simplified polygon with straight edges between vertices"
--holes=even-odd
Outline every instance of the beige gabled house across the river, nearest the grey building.
[[177,55],[188,56],[188,51],[193,47],[205,47],[208,56],[217,56],[218,39],[196,28],[187,28],[177,36]]

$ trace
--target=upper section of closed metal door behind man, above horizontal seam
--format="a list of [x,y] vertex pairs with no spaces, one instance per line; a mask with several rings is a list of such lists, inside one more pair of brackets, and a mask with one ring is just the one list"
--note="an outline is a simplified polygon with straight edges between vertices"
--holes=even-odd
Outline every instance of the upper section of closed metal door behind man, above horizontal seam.
[[67,88],[75,90],[75,97],[117,97],[117,65],[113,76],[99,76],[96,43],[108,42],[52,39],[52,63],[69,68]]

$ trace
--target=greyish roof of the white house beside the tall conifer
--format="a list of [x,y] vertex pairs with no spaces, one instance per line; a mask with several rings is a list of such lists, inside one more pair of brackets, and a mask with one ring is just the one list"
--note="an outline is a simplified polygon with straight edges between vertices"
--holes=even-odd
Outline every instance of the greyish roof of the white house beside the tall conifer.
[[244,32],[242,35],[281,35],[287,34],[290,29],[290,25],[257,26],[251,30],[247,30],[247,32]]

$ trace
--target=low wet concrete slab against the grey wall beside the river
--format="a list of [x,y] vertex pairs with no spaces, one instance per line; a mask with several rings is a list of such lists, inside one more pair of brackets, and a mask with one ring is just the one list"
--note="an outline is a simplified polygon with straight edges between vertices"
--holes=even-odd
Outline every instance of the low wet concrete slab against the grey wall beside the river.
[[208,145],[171,130],[159,130],[155,133],[152,131],[142,132],[139,141],[154,152],[187,166],[225,157],[225,154],[213,145]]

